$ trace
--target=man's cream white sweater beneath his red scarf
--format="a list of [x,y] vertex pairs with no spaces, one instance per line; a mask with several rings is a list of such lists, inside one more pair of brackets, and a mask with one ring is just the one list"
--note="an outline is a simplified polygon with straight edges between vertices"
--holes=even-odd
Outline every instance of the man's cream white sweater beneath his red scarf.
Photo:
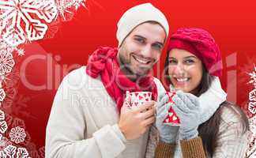
[[[158,93],[165,92],[155,78]],[[46,158],[141,158],[149,132],[126,141],[119,130],[119,112],[100,77],[73,70],[62,81],[47,124]]]

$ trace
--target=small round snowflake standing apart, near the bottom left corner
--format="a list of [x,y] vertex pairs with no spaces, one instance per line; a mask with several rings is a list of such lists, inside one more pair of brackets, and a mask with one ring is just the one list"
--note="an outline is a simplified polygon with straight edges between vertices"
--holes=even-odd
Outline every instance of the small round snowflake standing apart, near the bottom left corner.
[[12,130],[9,133],[9,137],[11,141],[15,142],[16,144],[19,144],[24,141],[26,134],[23,128],[17,126],[15,128],[12,128]]

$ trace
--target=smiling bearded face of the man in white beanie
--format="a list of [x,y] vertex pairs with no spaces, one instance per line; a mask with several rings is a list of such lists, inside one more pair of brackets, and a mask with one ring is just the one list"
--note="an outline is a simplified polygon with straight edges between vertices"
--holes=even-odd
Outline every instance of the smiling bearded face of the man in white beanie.
[[119,48],[119,62],[126,74],[136,77],[149,73],[159,60],[166,33],[160,24],[138,25]]

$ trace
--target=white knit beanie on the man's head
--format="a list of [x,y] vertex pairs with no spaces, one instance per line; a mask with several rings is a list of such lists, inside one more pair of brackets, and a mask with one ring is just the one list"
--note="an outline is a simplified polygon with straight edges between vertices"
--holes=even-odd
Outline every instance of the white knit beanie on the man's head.
[[137,25],[146,21],[156,21],[161,24],[166,33],[166,38],[168,37],[169,24],[164,13],[155,6],[152,6],[151,3],[145,3],[128,9],[120,18],[116,33],[116,37],[119,40],[119,47],[126,36],[128,36]]

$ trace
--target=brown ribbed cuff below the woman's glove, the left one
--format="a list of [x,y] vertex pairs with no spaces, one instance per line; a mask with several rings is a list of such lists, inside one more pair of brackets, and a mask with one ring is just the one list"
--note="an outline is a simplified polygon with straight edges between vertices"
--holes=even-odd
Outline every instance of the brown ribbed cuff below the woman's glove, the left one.
[[175,144],[168,144],[160,141],[156,146],[155,158],[170,158],[174,156]]

